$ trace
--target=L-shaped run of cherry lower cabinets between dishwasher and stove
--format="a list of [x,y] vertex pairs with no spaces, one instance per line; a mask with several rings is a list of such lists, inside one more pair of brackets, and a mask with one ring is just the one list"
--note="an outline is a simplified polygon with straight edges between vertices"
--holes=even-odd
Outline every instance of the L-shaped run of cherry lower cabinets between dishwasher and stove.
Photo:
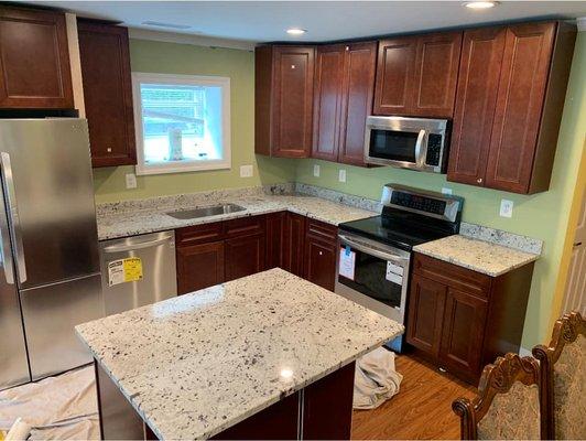
[[280,212],[175,232],[177,292],[280,267],[334,291],[337,227]]

